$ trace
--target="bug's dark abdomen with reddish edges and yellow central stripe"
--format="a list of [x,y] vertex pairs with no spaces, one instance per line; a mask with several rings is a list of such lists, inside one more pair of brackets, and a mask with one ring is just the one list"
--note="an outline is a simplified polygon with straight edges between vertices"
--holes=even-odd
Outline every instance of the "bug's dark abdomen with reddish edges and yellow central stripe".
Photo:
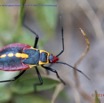
[[0,70],[18,71],[28,69],[29,65],[22,63],[22,57],[26,57],[27,55],[20,54],[24,48],[29,47],[29,45],[15,43],[2,48],[0,50]]

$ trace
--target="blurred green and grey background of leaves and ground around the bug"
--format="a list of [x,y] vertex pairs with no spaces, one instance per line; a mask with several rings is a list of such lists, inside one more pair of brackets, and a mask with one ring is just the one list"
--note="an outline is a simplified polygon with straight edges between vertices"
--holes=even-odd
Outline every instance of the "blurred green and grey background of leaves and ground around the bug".
[[[34,92],[38,78],[34,68],[29,69],[15,82],[0,84],[0,103],[103,103],[103,5],[103,0],[0,0],[0,48],[15,42],[33,46],[35,37],[22,26],[22,21],[39,35],[38,48],[54,55],[62,49],[62,25],[65,51],[60,61],[72,66],[87,46],[79,28],[90,41],[89,52],[77,65],[90,80],[67,66],[52,65],[66,82],[64,86],[54,73],[47,75],[39,67],[44,84]],[[0,71],[0,80],[12,79],[18,73]]]

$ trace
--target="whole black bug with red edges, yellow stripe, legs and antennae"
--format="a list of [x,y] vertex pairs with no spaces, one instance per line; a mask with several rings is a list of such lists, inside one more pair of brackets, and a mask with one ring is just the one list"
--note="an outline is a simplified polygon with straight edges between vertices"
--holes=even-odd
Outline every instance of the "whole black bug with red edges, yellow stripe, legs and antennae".
[[[38,66],[42,66],[44,69],[54,72],[57,76],[57,78],[65,84],[65,82],[60,78],[58,72],[51,68],[50,66],[46,66],[46,64],[63,64],[66,65],[72,69],[77,70],[81,74],[83,74],[85,77],[87,77],[82,71],[79,69],[69,65],[68,63],[59,61],[59,56],[64,52],[64,36],[63,36],[63,26],[61,26],[61,36],[62,36],[62,50],[54,56],[53,54],[45,51],[45,50],[39,50],[37,48],[37,44],[39,41],[38,34],[33,31],[31,28],[29,28],[26,24],[24,24],[24,27],[28,29],[31,33],[35,35],[35,42],[34,46],[30,46],[28,44],[21,44],[21,43],[13,43],[9,44],[5,47],[3,47],[0,50],[0,70],[3,71],[20,71],[20,73],[14,77],[11,80],[3,80],[0,81],[0,83],[3,82],[11,82],[17,80],[27,69],[30,69],[32,67],[35,68],[39,83],[34,84],[34,86],[42,85],[43,80],[41,77],[41,74],[38,70]],[[88,78],[88,77],[87,77]],[[88,78],[89,79],[89,78]]]

